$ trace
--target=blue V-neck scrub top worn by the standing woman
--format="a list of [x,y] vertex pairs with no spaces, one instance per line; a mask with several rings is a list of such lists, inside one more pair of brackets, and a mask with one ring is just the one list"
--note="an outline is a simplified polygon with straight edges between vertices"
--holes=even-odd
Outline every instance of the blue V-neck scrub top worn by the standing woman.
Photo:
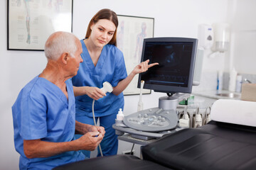
[[[117,86],[118,82],[127,77],[127,70],[124,64],[124,55],[114,45],[105,45],[100,54],[100,58],[95,65],[92,62],[85,42],[82,43],[82,60],[78,74],[72,78],[74,86],[95,86],[102,88],[105,81],[112,86]],[[77,116],[87,115],[92,117],[93,99],[87,95],[75,97],[75,107]],[[95,101],[95,116],[105,116],[117,114],[119,108],[124,108],[124,95],[121,93],[115,96],[107,93],[107,96]]]

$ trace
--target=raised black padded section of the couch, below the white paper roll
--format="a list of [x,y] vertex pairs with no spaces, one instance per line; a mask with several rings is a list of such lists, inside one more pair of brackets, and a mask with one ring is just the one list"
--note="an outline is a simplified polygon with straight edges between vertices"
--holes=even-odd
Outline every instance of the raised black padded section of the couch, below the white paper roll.
[[256,169],[256,128],[211,121],[142,147],[142,156],[171,169]]

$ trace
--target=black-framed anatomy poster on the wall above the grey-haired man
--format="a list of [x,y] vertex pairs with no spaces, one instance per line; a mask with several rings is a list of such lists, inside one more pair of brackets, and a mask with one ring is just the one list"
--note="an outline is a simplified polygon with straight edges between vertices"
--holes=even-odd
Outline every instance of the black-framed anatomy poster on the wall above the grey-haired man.
[[73,0],[8,0],[7,50],[43,50],[55,31],[72,32]]

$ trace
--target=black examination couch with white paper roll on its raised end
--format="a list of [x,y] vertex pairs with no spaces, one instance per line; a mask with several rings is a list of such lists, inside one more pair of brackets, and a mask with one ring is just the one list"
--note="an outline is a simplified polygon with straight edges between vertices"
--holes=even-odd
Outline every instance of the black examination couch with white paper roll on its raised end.
[[211,121],[142,147],[142,157],[115,155],[58,166],[61,169],[256,169],[256,102],[218,100]]

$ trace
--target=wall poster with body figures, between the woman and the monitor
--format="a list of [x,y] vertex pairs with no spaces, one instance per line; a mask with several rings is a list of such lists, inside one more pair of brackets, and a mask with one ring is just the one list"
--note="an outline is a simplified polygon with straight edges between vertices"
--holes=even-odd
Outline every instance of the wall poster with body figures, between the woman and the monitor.
[[[127,74],[141,62],[144,38],[154,37],[154,18],[117,15],[117,47],[124,53]],[[139,94],[137,88],[139,74],[124,90],[124,95]],[[151,90],[144,89],[143,94],[150,94]]]

